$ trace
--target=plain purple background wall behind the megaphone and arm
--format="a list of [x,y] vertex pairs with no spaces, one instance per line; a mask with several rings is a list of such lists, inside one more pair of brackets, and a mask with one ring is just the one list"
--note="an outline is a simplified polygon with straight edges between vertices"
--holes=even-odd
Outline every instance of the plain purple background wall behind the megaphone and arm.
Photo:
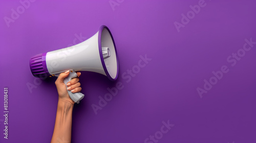
[[[125,0],[112,9],[109,1],[35,1],[9,28],[4,17],[11,18],[11,9],[21,4],[2,2],[0,142],[50,142],[56,78],[42,81],[31,93],[27,84],[34,84],[35,78],[29,59],[67,47],[75,34],[90,38],[101,25],[114,36],[118,81],[124,88],[95,115],[91,105],[98,105],[98,97],[116,83],[82,72],[86,97],[74,106],[72,142],[144,142],[168,120],[175,126],[159,142],[256,142],[256,45],[235,66],[227,62],[243,48],[245,38],[256,41],[256,3],[205,1],[177,32],[174,22],[181,22],[181,14],[198,2]],[[152,60],[127,83],[121,75],[145,54]],[[203,88],[204,79],[209,81],[211,72],[223,65],[229,72],[200,98],[197,87]],[[1,122],[4,87],[9,88],[8,140]]]

